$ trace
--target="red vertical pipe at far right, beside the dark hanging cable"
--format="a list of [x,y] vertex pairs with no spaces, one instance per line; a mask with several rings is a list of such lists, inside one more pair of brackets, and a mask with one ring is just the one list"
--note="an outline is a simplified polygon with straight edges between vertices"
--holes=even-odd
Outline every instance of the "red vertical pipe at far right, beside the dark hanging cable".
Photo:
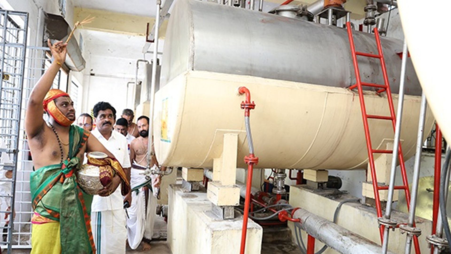
[[[442,132],[438,124],[435,124],[435,162],[434,162],[434,197],[432,207],[432,234],[436,233],[438,217],[438,197],[440,189],[440,169],[442,168]],[[433,253],[434,247],[431,247]]]

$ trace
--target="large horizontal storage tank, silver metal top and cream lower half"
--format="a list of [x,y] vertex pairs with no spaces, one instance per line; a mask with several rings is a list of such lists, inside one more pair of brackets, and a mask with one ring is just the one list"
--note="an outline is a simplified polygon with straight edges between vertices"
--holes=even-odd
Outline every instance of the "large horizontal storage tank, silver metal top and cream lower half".
[[[377,52],[374,36],[354,32],[358,51]],[[382,38],[397,93],[402,42]],[[364,81],[382,84],[378,61],[359,58]],[[239,135],[238,166],[248,154],[239,86],[251,91],[255,154],[261,168],[366,168],[367,150],[346,30],[203,1],[180,0],[168,24],[156,93],[154,136],[167,166],[211,167],[222,137]],[[401,140],[414,155],[421,89],[411,62]],[[368,90],[368,114],[388,115],[385,94]],[[397,95],[394,94],[397,105]],[[370,121],[374,149],[393,138],[391,122]],[[428,112],[426,131],[433,125]]]

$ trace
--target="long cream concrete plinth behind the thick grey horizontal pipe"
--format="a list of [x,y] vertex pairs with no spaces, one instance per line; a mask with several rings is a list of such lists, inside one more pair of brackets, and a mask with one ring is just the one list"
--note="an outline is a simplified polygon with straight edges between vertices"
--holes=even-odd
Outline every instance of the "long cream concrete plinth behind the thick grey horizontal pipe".
[[[338,203],[347,199],[356,198],[349,194],[338,194],[336,191],[313,189],[306,185],[290,186],[289,202],[293,207],[304,208],[308,212],[312,212],[329,221],[333,220]],[[391,213],[391,218],[400,223],[405,223],[407,222],[408,214],[394,210]],[[416,217],[415,221],[416,226],[422,230],[422,234],[419,236],[421,253],[429,253],[430,249],[428,249],[426,236],[430,235],[432,222],[419,217]],[[337,224],[368,240],[379,245],[381,244],[376,209],[373,207],[362,205],[359,202],[345,203],[341,206]],[[293,223],[289,222],[288,226],[293,232],[293,239],[295,239]],[[307,243],[305,232],[302,232],[302,235],[304,242]],[[317,240],[315,251],[321,249],[322,245],[323,244]],[[390,231],[388,249],[393,253],[404,253],[405,234],[401,235],[399,229],[396,229],[394,232]],[[337,253],[338,252],[335,250],[329,248],[323,254]],[[414,250],[412,250],[412,253],[414,253]]]

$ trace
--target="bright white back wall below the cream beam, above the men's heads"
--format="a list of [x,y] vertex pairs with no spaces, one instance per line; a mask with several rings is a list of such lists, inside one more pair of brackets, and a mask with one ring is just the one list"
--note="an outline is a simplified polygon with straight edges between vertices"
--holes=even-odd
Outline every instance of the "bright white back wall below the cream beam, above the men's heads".
[[[134,109],[134,82],[136,61],[143,59],[144,36],[107,33],[81,29],[83,55],[87,67],[83,71],[83,112],[90,112],[99,101],[111,103],[118,112]],[[162,51],[162,44],[159,51]],[[150,61],[152,55],[146,54]],[[143,80],[144,68],[140,64],[138,80]],[[127,96],[128,95],[128,96]]]

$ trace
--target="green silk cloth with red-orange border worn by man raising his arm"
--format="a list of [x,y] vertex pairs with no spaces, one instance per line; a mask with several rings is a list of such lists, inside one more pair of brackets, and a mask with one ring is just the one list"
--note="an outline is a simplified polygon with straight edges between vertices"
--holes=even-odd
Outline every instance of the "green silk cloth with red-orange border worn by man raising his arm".
[[[78,126],[70,126],[68,159],[37,169],[30,175],[33,210],[38,216],[59,221],[62,254],[96,253],[90,225],[92,196],[78,186],[75,175],[81,166],[77,155],[89,134]],[[40,223],[33,224],[33,228],[39,226]],[[33,235],[32,238],[39,241],[40,237],[46,236]]]

